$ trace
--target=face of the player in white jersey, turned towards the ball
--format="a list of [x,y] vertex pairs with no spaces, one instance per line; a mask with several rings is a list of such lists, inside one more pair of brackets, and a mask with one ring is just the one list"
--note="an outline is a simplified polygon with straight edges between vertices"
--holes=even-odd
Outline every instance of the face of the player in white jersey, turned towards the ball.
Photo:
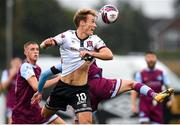
[[84,25],[83,25],[84,33],[87,34],[88,36],[93,35],[96,27],[97,27],[96,17],[91,14],[88,14],[86,17],[86,21],[84,21]]

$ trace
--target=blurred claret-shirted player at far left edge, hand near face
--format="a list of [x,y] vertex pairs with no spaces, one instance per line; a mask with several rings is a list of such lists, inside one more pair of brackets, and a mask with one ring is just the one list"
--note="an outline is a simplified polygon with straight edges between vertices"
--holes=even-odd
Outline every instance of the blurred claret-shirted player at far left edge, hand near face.
[[6,69],[2,73],[1,77],[1,86],[0,86],[0,93],[4,92],[6,93],[6,117],[7,117],[7,123],[12,123],[12,109],[15,103],[15,82],[16,82],[16,76],[19,71],[19,67],[22,63],[22,60],[18,57],[14,57],[10,61],[10,68]]

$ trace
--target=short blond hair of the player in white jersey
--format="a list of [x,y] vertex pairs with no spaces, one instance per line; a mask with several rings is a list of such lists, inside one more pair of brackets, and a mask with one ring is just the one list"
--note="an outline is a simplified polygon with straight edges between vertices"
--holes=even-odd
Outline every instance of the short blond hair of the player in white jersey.
[[91,14],[93,16],[97,17],[96,11],[93,9],[79,9],[73,18],[73,22],[75,24],[76,27],[79,27],[79,22],[81,20],[86,20],[86,17],[88,14]]

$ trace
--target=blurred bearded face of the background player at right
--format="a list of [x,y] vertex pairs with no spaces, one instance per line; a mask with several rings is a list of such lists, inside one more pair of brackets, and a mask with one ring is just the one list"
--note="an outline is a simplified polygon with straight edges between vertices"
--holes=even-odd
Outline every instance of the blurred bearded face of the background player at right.
[[146,55],[146,62],[150,69],[153,69],[155,67],[156,61],[157,61],[157,57],[155,54]]

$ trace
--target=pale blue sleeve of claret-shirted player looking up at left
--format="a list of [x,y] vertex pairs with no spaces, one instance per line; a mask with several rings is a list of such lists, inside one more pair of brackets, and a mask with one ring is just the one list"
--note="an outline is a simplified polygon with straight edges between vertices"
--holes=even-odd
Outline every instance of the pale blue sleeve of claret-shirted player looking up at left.
[[34,73],[33,66],[29,63],[23,63],[20,68],[20,74],[26,80],[34,76],[35,73]]

